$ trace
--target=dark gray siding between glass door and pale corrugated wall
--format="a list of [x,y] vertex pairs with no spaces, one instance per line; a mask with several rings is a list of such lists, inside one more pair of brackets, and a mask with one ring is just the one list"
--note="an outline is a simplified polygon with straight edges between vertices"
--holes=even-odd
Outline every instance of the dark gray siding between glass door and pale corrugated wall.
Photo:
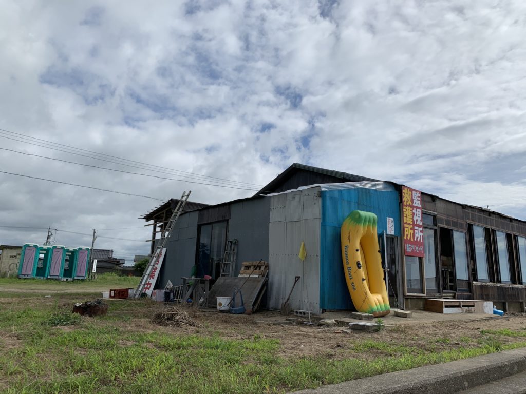
[[240,201],[230,207],[228,239],[238,240],[234,276],[244,261],[268,261],[270,199]]

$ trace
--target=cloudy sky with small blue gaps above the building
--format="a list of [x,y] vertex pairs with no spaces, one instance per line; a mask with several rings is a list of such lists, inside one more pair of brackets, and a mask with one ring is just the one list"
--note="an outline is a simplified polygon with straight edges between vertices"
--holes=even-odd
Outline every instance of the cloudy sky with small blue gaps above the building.
[[162,201],[294,162],[526,220],[521,1],[0,3],[0,244],[130,264]]

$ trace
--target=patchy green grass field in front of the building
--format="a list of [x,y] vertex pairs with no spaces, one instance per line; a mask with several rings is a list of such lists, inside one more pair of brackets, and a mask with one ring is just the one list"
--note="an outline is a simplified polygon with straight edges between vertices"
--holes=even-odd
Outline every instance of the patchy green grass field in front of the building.
[[[118,282],[124,279],[99,280],[126,287]],[[493,323],[494,330],[481,332],[482,323],[467,325],[466,335],[466,327],[451,335],[444,328],[438,337],[407,327],[346,335],[312,326],[260,327],[258,315],[188,308],[200,327],[163,327],[150,317],[165,307],[146,299],[109,301],[104,317],[71,314],[73,303],[88,298],[90,283],[38,284],[59,286],[52,296],[5,290],[31,283],[0,280],[2,393],[287,392],[526,346],[523,317],[512,328]],[[60,292],[63,285],[68,292]],[[316,336],[311,345],[309,336]],[[302,344],[317,342],[333,350],[301,353]]]

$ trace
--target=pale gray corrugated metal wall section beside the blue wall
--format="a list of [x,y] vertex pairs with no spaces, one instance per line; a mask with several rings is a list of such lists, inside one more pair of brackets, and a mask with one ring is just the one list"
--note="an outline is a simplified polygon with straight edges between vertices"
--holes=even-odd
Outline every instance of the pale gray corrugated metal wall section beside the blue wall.
[[[269,224],[269,309],[279,309],[294,283],[289,308],[320,314],[320,188],[270,197]],[[307,257],[298,257],[305,241]]]

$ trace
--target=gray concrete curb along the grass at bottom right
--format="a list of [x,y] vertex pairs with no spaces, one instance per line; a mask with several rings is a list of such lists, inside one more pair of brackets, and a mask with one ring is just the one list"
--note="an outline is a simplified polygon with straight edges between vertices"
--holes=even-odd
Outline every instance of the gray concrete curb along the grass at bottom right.
[[350,380],[296,394],[447,394],[526,371],[526,348]]

